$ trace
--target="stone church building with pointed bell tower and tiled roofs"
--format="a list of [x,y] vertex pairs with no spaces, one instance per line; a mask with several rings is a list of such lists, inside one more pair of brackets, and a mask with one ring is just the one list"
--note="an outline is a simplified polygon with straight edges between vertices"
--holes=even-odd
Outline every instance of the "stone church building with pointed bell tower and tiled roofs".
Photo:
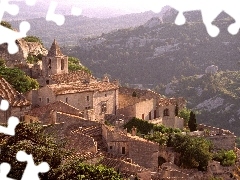
[[48,55],[43,57],[42,76],[38,81],[41,88],[27,95],[33,107],[62,101],[84,111],[84,118],[89,120],[100,120],[105,114],[116,114],[118,84],[109,82],[107,77],[98,81],[82,70],[68,72],[68,58],[62,54],[55,40]]

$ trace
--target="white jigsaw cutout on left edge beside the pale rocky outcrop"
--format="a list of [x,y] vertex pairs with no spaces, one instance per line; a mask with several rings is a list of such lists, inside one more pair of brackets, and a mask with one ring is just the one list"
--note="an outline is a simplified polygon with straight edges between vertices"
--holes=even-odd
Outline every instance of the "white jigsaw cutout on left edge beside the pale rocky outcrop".
[[16,40],[26,37],[27,32],[30,30],[30,24],[26,21],[20,23],[19,31],[13,31],[4,26],[0,26],[0,44],[8,43],[8,52],[10,54],[15,54],[18,52],[18,46]]

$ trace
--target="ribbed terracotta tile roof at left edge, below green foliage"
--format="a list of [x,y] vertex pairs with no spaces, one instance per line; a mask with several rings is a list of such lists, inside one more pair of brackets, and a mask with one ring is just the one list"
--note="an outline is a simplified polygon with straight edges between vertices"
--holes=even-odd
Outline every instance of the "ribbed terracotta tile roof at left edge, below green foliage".
[[31,103],[17,92],[4,78],[0,77],[0,98],[8,100],[12,107],[30,106]]

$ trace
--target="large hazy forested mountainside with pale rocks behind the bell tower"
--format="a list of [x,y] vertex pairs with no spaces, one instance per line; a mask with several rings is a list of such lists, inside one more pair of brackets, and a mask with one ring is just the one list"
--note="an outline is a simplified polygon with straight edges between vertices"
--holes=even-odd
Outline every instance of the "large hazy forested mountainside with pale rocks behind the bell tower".
[[212,38],[199,11],[185,13],[188,22],[183,26],[173,23],[177,13],[171,11],[135,28],[83,38],[64,51],[80,58],[98,77],[108,73],[122,84],[153,84],[146,88],[168,83],[173,76],[201,74],[212,64],[238,70],[240,36],[227,31],[233,19],[222,13],[214,21],[221,33]]

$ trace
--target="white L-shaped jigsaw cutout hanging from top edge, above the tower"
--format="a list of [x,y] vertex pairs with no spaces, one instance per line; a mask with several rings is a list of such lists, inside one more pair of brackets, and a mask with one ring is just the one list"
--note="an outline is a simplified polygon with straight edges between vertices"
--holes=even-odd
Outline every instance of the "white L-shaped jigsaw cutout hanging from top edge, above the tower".
[[61,14],[55,14],[55,10],[57,8],[57,2],[51,1],[48,12],[46,15],[46,20],[47,21],[54,21],[58,26],[61,26],[64,24],[65,17]]

